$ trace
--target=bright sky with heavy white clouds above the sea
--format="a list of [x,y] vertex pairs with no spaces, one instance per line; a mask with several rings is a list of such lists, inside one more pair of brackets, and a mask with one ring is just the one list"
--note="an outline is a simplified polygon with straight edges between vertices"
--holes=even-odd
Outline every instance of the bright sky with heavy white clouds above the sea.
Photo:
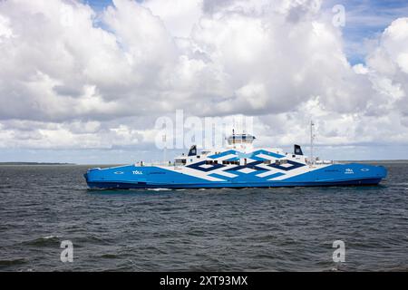
[[257,146],[307,153],[313,120],[322,159],[408,159],[406,1],[4,0],[0,68],[0,162],[160,160],[177,110],[251,117]]

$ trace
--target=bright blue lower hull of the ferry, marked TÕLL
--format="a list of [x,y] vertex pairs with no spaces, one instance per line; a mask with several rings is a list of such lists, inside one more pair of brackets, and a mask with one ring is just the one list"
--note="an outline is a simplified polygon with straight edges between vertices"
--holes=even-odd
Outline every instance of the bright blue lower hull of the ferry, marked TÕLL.
[[[255,170],[254,170],[255,171]],[[89,169],[84,175],[90,189],[220,189],[220,188],[277,188],[377,185],[386,177],[383,166],[359,163],[333,164],[321,169],[305,169],[282,179],[285,174],[262,177],[263,171],[248,174],[235,172],[234,178],[217,174],[202,175],[183,172],[173,167],[122,166]],[[209,179],[211,177],[212,179]],[[272,177],[272,178],[271,178]],[[272,179],[272,180],[271,180]]]

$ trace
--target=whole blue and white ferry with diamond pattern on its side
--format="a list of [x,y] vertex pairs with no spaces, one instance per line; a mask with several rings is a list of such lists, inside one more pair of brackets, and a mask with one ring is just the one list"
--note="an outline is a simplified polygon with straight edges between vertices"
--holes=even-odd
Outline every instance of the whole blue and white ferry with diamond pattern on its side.
[[233,134],[223,150],[192,146],[173,164],[88,169],[84,177],[91,189],[217,189],[376,185],[387,174],[383,166],[308,160],[298,145],[293,153],[254,149],[254,140]]

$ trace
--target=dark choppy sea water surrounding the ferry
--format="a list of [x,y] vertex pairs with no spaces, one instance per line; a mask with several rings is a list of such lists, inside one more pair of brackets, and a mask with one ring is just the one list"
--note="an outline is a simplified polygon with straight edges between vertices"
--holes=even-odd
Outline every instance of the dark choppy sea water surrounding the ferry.
[[0,166],[0,270],[408,271],[408,163],[385,166],[378,187],[161,191],[88,190],[87,166]]

